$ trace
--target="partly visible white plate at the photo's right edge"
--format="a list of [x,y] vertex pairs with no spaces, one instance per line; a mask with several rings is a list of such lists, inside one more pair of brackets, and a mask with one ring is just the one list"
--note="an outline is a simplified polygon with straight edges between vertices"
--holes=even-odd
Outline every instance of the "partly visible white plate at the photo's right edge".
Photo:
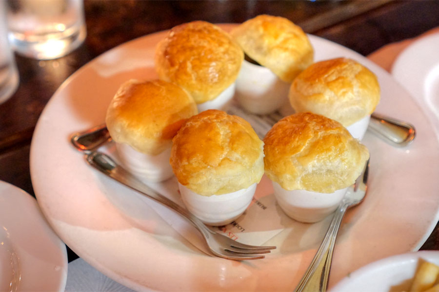
[[439,34],[422,37],[395,60],[392,75],[409,91],[439,134]]

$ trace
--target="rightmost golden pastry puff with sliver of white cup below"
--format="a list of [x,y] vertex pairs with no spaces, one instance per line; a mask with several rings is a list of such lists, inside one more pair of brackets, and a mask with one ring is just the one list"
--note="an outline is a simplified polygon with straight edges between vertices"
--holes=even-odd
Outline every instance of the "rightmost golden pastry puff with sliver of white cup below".
[[334,119],[360,140],[379,98],[376,75],[348,58],[312,64],[296,77],[289,92],[296,112],[311,111]]

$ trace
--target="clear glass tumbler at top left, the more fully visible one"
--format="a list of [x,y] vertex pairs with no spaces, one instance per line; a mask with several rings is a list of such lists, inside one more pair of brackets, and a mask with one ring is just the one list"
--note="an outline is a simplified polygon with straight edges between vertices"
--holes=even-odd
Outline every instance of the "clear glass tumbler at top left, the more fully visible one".
[[6,6],[9,40],[20,55],[55,59],[85,39],[82,0],[7,0]]

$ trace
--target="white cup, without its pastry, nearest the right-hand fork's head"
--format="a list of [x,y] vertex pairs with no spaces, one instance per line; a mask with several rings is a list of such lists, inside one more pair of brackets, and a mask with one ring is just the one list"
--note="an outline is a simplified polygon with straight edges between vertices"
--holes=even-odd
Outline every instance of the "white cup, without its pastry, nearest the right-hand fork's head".
[[314,223],[333,213],[346,194],[347,188],[324,194],[306,190],[288,191],[272,182],[274,195],[286,215],[300,222]]

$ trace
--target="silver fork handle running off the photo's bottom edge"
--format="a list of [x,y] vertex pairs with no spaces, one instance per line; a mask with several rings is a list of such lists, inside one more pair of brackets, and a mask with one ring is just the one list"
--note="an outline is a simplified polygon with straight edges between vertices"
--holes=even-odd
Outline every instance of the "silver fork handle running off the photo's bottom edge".
[[339,232],[341,219],[343,219],[347,207],[347,203],[341,203],[335,211],[334,217],[329,224],[328,231],[320,244],[319,250],[294,291],[326,291],[334,245],[337,233]]

